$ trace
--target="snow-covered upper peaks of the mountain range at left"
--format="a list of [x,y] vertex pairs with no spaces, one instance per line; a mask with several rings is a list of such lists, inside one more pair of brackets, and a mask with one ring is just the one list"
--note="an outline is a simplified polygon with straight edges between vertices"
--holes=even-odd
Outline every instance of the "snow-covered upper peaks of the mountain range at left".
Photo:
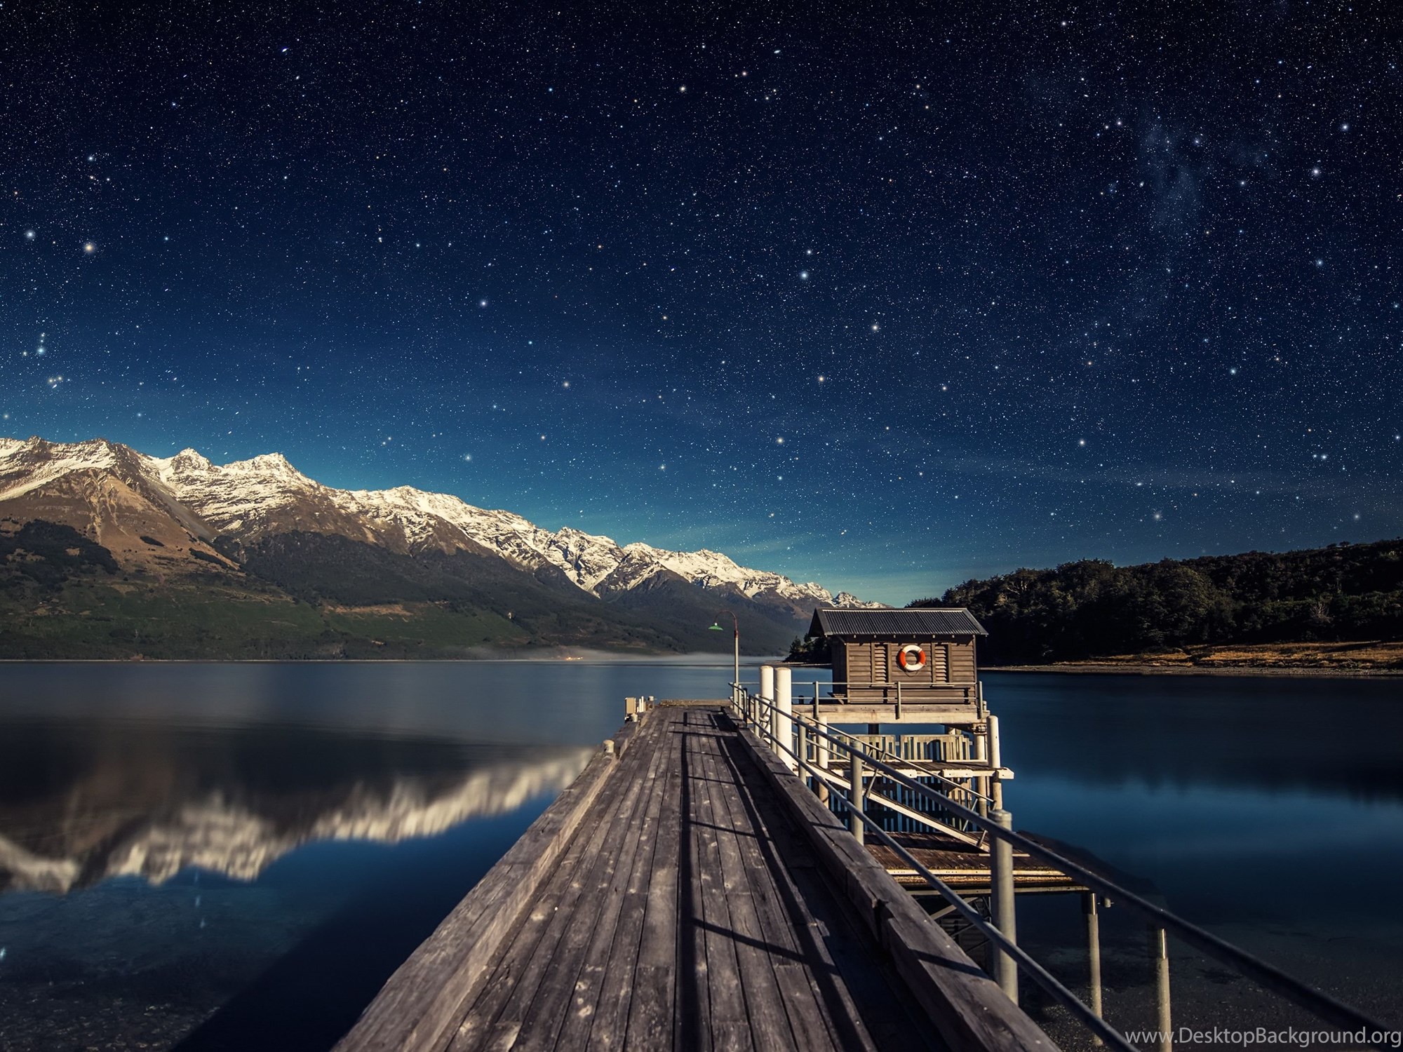
[[[700,589],[791,606],[796,616],[814,605],[881,606],[847,592],[835,596],[815,582],[741,567],[706,548],[619,544],[568,526],[551,532],[508,511],[474,508],[457,497],[411,487],[335,490],[302,474],[281,453],[215,464],[192,449],[152,457],[104,439],[73,445],[0,439],[0,515],[14,511],[66,522],[111,548],[119,561],[149,555],[150,539],[163,548],[203,551],[215,539],[248,547],[300,532],[400,554],[494,554],[528,572],[554,568],[598,598],[673,574]],[[153,522],[161,513],[174,530]],[[140,527],[132,527],[133,516]],[[220,551],[227,554],[229,547]]]

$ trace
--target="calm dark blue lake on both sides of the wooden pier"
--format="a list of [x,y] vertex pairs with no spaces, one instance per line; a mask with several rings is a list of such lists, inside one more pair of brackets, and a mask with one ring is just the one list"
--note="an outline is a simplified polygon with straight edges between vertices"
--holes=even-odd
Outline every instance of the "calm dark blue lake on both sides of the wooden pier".
[[[328,1048],[619,727],[626,694],[720,697],[730,673],[4,666],[0,1048]],[[1403,683],[986,673],[985,687],[1017,828],[1403,1021]],[[1020,936],[1085,982],[1079,903],[1033,898]],[[1148,965],[1125,913],[1103,924],[1107,1014],[1129,1025]],[[1184,952],[1173,975],[1176,1021],[1250,1017],[1222,969]]]

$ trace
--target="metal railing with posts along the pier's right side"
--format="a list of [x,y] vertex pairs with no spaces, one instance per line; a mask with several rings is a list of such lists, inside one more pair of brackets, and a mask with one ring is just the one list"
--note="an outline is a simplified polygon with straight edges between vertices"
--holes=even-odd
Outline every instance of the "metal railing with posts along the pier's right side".
[[[766,686],[770,685],[762,679],[762,690]],[[1017,976],[1021,971],[1054,1002],[1066,1009],[1073,1018],[1085,1024],[1096,1035],[1096,1038],[1106,1042],[1111,1048],[1122,1049],[1124,1052],[1135,1052],[1135,1046],[1131,1045],[1118,1030],[1106,1023],[1106,1020],[1100,1016],[1100,983],[1097,975],[1100,971],[1099,952],[1093,955],[1092,961],[1092,990],[1093,1003],[1096,1004],[1093,1009],[1082,1002],[1080,997],[1069,990],[1051,972],[1042,968],[1042,965],[1028,957],[1026,951],[1019,948],[1013,905],[1013,850],[1017,849],[1033,858],[1047,863],[1061,871],[1065,877],[1086,885],[1086,888],[1089,888],[1094,895],[1104,896],[1106,899],[1114,899],[1118,905],[1125,905],[1145,917],[1149,924],[1152,945],[1157,945],[1159,950],[1156,954],[1156,979],[1160,990],[1159,1030],[1164,1034],[1160,1049],[1169,1049],[1169,1034],[1172,1032],[1167,1003],[1169,964],[1166,954],[1166,933],[1173,933],[1188,945],[1193,945],[1222,964],[1235,968],[1237,972],[1258,983],[1264,989],[1289,1000],[1331,1025],[1337,1025],[1348,1031],[1362,1030],[1379,1035],[1375,1038],[1375,1041],[1379,1042],[1375,1046],[1386,1046],[1382,1044],[1383,1038],[1393,1028],[1385,1027],[1378,1020],[1365,1016],[1362,1011],[1345,1004],[1344,1002],[1340,1002],[1327,993],[1322,993],[1305,982],[1287,975],[1261,958],[1240,950],[1239,947],[1219,938],[1211,931],[1207,931],[1188,920],[1184,920],[1183,917],[1179,917],[1174,913],[1170,913],[1162,906],[1156,906],[1153,902],[1149,902],[1120,884],[1101,877],[1093,870],[1063,857],[1037,840],[1013,832],[1009,812],[1003,811],[1002,807],[988,807],[996,801],[1002,804],[998,793],[995,793],[993,797],[978,794],[978,809],[968,808],[955,800],[951,800],[936,785],[923,784],[905,774],[901,767],[909,767],[909,760],[892,757],[887,750],[870,749],[857,735],[845,734],[836,728],[829,728],[821,722],[805,718],[801,713],[796,713],[793,710],[791,699],[784,697],[787,692],[779,690],[776,693],[779,697],[762,697],[760,694],[752,693],[744,685],[732,683],[732,711],[746,728],[753,731],[762,742],[769,745],[769,748],[786,763],[790,771],[793,771],[797,777],[801,777],[801,771],[812,774],[818,780],[818,785],[822,785],[829,794],[839,798],[849,815],[849,830],[859,839],[859,842],[866,840],[867,833],[871,833],[881,840],[887,847],[895,851],[897,856],[902,858],[932,889],[939,892],[955,913],[958,913],[965,922],[989,940],[989,943],[995,947],[992,978],[1014,1003],[1017,1003]],[[784,701],[790,701],[790,704],[783,704]],[[811,749],[810,746],[815,743],[819,743],[818,748]],[[811,752],[817,755],[811,756]],[[832,769],[840,769],[842,764],[831,763],[831,760],[838,759],[838,755],[843,753],[847,756],[849,769],[847,777],[845,778],[849,787],[847,793],[843,793],[833,784]],[[993,760],[998,757],[991,759]],[[978,829],[981,832],[981,839],[989,840],[988,850],[991,871],[991,912],[993,913],[992,922],[985,920],[979,912],[957,891],[941,881],[904,844],[895,840],[891,833],[882,828],[882,823],[878,819],[867,814],[868,801],[874,801],[880,807],[888,808],[897,802],[877,793],[875,777],[873,778],[873,787],[868,788],[866,785],[867,769],[870,769],[874,776],[880,773],[882,778],[904,787],[911,794],[927,797],[941,811],[962,819],[969,828]],[[941,778],[941,781],[964,793],[974,791],[965,785],[950,781],[948,778]],[[911,809],[902,809],[902,814],[912,815],[913,812]],[[934,818],[926,818],[926,822],[933,829],[948,832],[948,826]],[[1094,908],[1092,917],[1094,917]],[[1089,922],[1094,930],[1094,922],[1092,917],[1089,917]]]

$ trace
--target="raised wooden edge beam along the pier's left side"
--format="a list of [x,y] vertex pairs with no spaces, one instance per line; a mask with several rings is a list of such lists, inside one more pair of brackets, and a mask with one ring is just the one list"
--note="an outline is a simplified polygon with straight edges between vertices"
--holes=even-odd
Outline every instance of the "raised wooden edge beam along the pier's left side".
[[[630,724],[615,736],[626,750]],[[595,753],[579,777],[532,822],[505,856],[390,976],[335,1052],[441,1049],[492,957],[535,899],[617,759]]]

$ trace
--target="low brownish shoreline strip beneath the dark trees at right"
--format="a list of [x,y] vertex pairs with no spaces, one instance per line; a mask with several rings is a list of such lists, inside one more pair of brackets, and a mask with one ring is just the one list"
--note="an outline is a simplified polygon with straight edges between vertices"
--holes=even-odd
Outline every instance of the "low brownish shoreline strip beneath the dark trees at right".
[[1048,665],[986,665],[985,672],[1069,672],[1120,676],[1403,676],[1403,642],[1268,642],[1191,647]]

